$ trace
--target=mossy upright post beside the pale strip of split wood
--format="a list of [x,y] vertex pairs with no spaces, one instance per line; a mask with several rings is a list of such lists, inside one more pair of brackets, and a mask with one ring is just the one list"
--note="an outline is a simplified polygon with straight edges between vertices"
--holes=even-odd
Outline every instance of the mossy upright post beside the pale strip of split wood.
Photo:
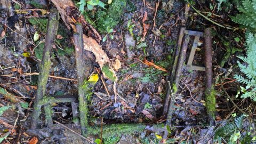
[[88,106],[85,98],[85,91],[83,89],[83,82],[85,79],[85,59],[83,58],[83,26],[80,24],[76,24],[77,33],[74,34],[74,45],[75,45],[75,53],[76,53],[76,70],[77,70],[77,80],[78,80],[78,100],[79,100],[79,117],[81,124],[81,132],[82,135],[86,135],[86,127],[87,127],[87,113]]

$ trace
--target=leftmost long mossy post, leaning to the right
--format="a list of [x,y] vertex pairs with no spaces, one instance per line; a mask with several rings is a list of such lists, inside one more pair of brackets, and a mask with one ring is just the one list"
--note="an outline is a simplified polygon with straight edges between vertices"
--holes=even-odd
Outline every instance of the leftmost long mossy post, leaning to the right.
[[43,58],[42,58],[41,66],[39,68],[37,91],[36,91],[36,97],[34,102],[34,110],[32,113],[31,125],[30,125],[32,129],[36,128],[38,118],[41,113],[42,105],[40,104],[39,101],[43,98],[46,90],[46,83],[48,80],[50,67],[51,67],[52,46],[54,44],[54,39],[57,34],[58,23],[59,23],[59,12],[55,8],[51,9],[48,23],[47,23],[47,32],[46,32],[46,38],[45,38],[45,44],[44,44]]

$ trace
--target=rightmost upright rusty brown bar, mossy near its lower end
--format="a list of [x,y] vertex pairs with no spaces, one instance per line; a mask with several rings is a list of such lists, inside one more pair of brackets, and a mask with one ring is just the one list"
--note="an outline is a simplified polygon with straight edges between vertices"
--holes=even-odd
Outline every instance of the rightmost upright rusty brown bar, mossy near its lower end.
[[205,91],[205,107],[209,116],[210,124],[215,122],[215,92],[212,86],[212,35],[211,28],[204,31],[204,48],[205,48],[205,75],[206,75],[206,91]]

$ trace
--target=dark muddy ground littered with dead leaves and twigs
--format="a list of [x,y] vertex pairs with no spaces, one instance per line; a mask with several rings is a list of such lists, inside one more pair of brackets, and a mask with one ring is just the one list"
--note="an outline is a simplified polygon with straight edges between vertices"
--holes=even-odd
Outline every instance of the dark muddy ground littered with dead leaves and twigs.
[[[46,6],[48,4],[45,1],[38,2],[43,4],[42,9],[49,10],[49,7]],[[142,60],[145,58],[170,71],[170,62],[177,42],[179,28],[186,26],[187,29],[203,31],[204,27],[212,26],[211,23],[198,17],[192,10],[185,13],[187,5],[183,1],[161,1],[156,17],[154,17],[154,14],[157,1],[143,2],[129,1],[127,5],[133,8],[130,9],[127,6],[124,9],[121,21],[112,33],[114,38],[108,38],[106,42],[100,43],[110,61],[115,62],[116,59],[121,61],[121,68],[116,70],[118,77],[116,82],[116,102],[113,88],[114,82],[102,77],[106,87],[101,79],[94,85],[94,94],[89,102],[91,125],[100,125],[101,123],[163,123],[165,118],[162,118],[162,111],[169,74],[166,71],[145,65],[145,63],[142,63]],[[45,32],[43,30],[40,31],[38,26],[32,25],[28,19],[47,18],[47,13],[42,14],[42,11],[34,10],[26,11],[26,13],[13,11],[15,9],[14,6],[17,4],[20,4],[19,10],[38,8],[29,3],[29,1],[12,1],[1,7],[0,31],[5,31],[5,35],[1,35],[0,43],[0,86],[19,97],[23,102],[28,103],[28,106],[16,103],[16,109],[13,106],[13,109],[9,109],[1,116],[1,121],[16,126],[16,129],[4,140],[4,143],[9,141],[11,143],[29,143],[33,135],[36,135],[41,143],[83,143],[84,140],[67,129],[56,128],[50,130],[45,128],[44,114],[41,114],[38,121],[38,126],[44,129],[36,132],[27,131],[29,130],[33,98],[37,89],[37,75],[25,76],[24,74],[39,73],[38,66],[41,60],[36,57],[36,54],[39,52],[34,50],[39,49],[38,43],[33,41],[35,31],[38,31],[40,35],[38,42],[45,39]],[[53,6],[51,3],[50,5]],[[11,8],[7,9],[6,7]],[[146,23],[149,25],[149,29],[145,40],[141,42],[143,37],[142,20],[145,17],[145,13],[148,14]],[[131,36],[127,28],[129,20],[135,25],[133,27],[134,37]],[[203,25],[202,23],[205,24]],[[63,29],[66,31],[65,35],[61,35],[63,38],[60,45],[62,45],[62,48],[63,45],[67,45],[74,49],[72,32],[66,29],[65,24],[61,20],[60,28],[59,31]],[[155,29],[159,28],[161,28],[161,34],[155,31]],[[215,31],[220,33],[222,30],[215,28]],[[101,36],[104,37],[105,35],[102,34]],[[219,84],[218,77],[220,75],[227,75],[226,80],[229,80],[230,66],[234,65],[236,59],[225,62],[225,66],[220,67],[220,57],[222,57],[221,55],[225,51],[223,52],[223,49],[220,49],[218,46],[218,43],[220,43],[218,37],[213,39],[215,41],[213,46],[214,81]],[[200,43],[202,45],[198,47],[194,63],[195,65],[204,66],[202,40]],[[77,95],[77,82],[73,81],[77,78],[75,53],[72,50],[67,52],[66,48],[66,51],[62,52],[61,46],[58,46],[58,43],[55,45],[53,47],[55,58],[52,60],[50,75],[68,78],[68,80],[49,78],[46,86],[46,95]],[[191,47],[191,43],[189,47]],[[26,52],[31,54],[30,57],[25,57]],[[94,60],[92,63],[93,67],[89,69],[90,74],[97,73],[95,68],[99,68],[99,65],[95,62],[92,53],[89,53],[89,57],[91,60]],[[230,57],[234,57],[234,55]],[[205,73],[204,71],[187,70],[185,67],[182,73],[183,76],[178,87],[180,94],[175,98],[176,109],[172,117],[174,128],[170,139],[178,143],[212,143],[213,128],[207,122],[204,100]],[[232,75],[230,75],[231,78]],[[228,84],[227,92],[235,94],[237,92],[236,85],[236,82]],[[218,85],[215,86],[215,89],[219,91],[221,87]],[[1,106],[13,104],[8,99],[4,99],[1,94],[0,96]],[[228,108],[234,110],[233,105],[230,105],[230,102],[221,97],[221,93],[217,93],[217,123],[225,121],[230,116]],[[53,109],[52,117],[54,121],[62,124],[73,123],[70,103],[58,103]],[[10,129],[6,125],[1,124],[0,126],[1,133],[4,133],[6,129]],[[71,126],[71,128],[74,127]],[[79,131],[79,127],[74,129]],[[24,134],[24,132],[26,133]],[[158,143],[161,141],[161,138],[158,139],[154,132],[144,131],[133,135],[122,135],[118,141],[118,143]]]

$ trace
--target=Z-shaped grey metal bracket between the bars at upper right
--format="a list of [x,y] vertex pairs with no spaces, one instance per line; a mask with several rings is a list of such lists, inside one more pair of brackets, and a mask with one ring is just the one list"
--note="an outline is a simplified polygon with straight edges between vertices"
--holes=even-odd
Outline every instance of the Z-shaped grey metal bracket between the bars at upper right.
[[196,49],[197,49],[197,44],[199,42],[199,38],[204,37],[204,33],[201,32],[201,31],[184,30],[184,34],[189,35],[189,36],[195,36],[193,45],[191,47],[191,51],[189,53],[189,58],[188,58],[188,62],[187,62],[187,69],[188,70],[191,69],[191,70],[205,71],[205,67],[192,65],[192,62],[193,62],[194,57],[195,57]]

